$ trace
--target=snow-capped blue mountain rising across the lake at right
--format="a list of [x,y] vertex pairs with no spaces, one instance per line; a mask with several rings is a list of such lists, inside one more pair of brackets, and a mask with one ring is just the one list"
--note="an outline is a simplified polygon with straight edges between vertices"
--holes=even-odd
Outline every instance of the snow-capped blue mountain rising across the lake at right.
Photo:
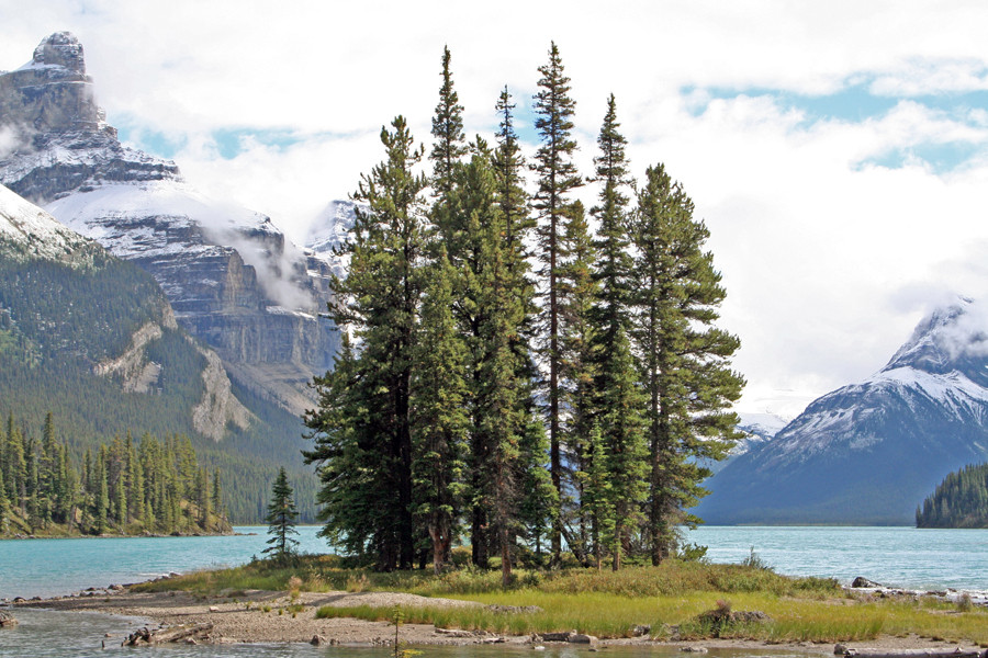
[[962,299],[878,373],[810,404],[707,483],[710,523],[911,523],[943,477],[988,460],[988,321]]

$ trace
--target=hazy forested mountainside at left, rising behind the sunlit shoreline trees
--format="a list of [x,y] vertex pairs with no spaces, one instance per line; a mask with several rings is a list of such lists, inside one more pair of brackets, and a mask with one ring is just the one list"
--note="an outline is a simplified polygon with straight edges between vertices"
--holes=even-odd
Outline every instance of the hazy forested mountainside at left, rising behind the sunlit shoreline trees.
[[[149,431],[189,436],[211,472],[218,472],[227,510],[238,523],[259,523],[267,492],[285,466],[304,521],[314,521],[317,480],[300,451],[297,417],[234,384],[255,422],[232,427],[221,443],[201,436],[191,408],[202,398],[205,358],[182,330],[166,321],[168,302],[150,274],[113,258],[97,245],[69,262],[20,258],[0,240],[0,402],[19,421],[42,427],[48,412],[70,455],[96,454],[105,436]],[[13,253],[11,251],[13,250]],[[154,388],[127,389],[116,376],[98,376],[96,364],[122,353],[147,322],[161,328],[145,358],[160,366]]]

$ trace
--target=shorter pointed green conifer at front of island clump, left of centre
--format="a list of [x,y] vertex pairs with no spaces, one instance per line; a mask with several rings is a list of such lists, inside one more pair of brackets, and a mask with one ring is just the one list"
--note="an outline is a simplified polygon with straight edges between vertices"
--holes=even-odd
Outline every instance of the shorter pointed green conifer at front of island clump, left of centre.
[[470,426],[467,350],[452,316],[454,275],[440,248],[423,303],[413,381],[415,509],[428,531],[436,574],[459,534]]

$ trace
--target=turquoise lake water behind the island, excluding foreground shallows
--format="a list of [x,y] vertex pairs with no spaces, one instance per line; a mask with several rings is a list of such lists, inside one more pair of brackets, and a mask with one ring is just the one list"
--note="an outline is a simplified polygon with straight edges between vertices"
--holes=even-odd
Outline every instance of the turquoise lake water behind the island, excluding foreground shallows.
[[[137,582],[171,571],[242,565],[262,555],[266,526],[224,537],[0,541],[0,599],[53,597]],[[317,527],[299,527],[300,549],[326,553]],[[790,576],[850,583],[856,576],[912,589],[988,590],[988,530],[914,527],[699,527],[688,542],[712,561],[739,563],[751,549]]]

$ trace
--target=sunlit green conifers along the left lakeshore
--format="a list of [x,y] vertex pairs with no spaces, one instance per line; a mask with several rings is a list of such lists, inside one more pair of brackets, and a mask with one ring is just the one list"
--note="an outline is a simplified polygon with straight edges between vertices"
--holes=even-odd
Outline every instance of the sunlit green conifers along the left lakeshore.
[[0,428],[0,535],[231,531],[221,478],[186,436],[127,434],[76,458],[50,413],[40,438],[13,413]]

